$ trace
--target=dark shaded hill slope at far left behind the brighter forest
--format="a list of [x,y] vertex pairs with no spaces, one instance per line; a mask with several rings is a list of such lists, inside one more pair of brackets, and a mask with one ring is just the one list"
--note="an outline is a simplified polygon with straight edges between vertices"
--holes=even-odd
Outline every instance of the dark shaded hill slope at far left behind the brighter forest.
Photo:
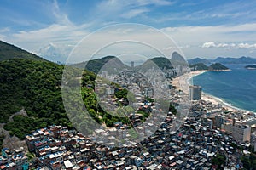
[[15,47],[14,45],[11,45],[7,42],[0,41],[0,61],[15,58],[46,61],[46,59],[29,53],[26,50]]

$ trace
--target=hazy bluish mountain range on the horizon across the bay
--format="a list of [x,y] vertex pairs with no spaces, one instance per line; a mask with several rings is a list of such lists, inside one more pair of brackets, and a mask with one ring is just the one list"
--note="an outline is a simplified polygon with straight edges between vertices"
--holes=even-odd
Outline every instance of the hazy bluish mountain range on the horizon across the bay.
[[198,63],[203,63],[205,65],[209,65],[211,63],[221,63],[221,64],[253,64],[256,63],[255,58],[251,57],[245,57],[242,56],[240,58],[224,58],[224,57],[218,57],[217,59],[201,59],[201,58],[195,58],[195,59],[188,59],[189,65],[195,65]]

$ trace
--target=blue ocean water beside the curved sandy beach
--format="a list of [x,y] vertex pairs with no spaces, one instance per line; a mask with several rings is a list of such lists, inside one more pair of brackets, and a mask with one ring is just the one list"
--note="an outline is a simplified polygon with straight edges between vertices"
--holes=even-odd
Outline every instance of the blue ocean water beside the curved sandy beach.
[[205,94],[210,94],[228,105],[256,112],[256,70],[247,70],[246,65],[225,65],[232,71],[207,71],[193,77]]

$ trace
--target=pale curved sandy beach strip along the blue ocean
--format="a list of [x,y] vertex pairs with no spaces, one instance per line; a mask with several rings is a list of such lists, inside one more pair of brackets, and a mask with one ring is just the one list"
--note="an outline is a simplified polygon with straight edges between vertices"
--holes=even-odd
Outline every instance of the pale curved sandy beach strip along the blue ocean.
[[[196,76],[199,76],[199,75],[201,75],[205,72],[207,72],[207,71],[191,71],[189,73],[185,73],[182,76],[174,78],[173,81],[172,81],[172,84],[178,90],[182,90],[183,93],[189,94],[189,85],[193,84],[193,81],[191,81],[192,78],[196,77]],[[222,107],[224,107],[224,109],[226,109],[228,111],[233,111],[233,112],[243,111],[243,112],[255,113],[253,111],[247,111],[245,109],[238,108],[234,105],[226,103],[223,99],[219,99],[216,96],[213,96],[211,94],[207,94],[207,93],[204,93],[204,92],[202,92],[202,94],[201,94],[201,99],[205,100],[207,102],[212,102],[212,104],[214,104],[214,105],[222,105]]]

